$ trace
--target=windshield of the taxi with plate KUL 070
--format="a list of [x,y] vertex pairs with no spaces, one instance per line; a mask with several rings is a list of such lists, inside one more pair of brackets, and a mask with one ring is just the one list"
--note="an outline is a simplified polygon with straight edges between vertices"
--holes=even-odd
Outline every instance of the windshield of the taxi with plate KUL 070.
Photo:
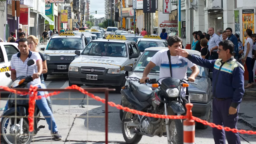
[[46,50],[83,50],[82,38],[61,37],[51,38],[48,42]]

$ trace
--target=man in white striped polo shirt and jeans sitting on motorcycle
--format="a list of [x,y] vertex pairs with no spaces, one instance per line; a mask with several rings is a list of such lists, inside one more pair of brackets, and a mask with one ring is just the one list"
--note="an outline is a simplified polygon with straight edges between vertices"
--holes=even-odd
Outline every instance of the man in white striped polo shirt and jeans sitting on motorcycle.
[[[29,45],[27,39],[23,38],[18,41],[18,49],[20,52],[14,54],[11,58],[11,78],[15,80],[18,76],[32,75],[33,81],[28,83],[30,85],[37,86],[41,88],[40,75],[42,73],[42,59],[38,52],[32,52],[29,50]],[[36,64],[27,66],[27,61],[33,59]],[[27,70],[28,68],[28,70]],[[44,92],[38,92],[38,95],[44,95]],[[55,140],[61,140],[62,137],[58,132],[53,113],[51,112],[48,103],[44,97],[36,100],[36,105],[44,115],[47,124],[49,125],[49,130]],[[52,125],[52,127],[51,127]]]

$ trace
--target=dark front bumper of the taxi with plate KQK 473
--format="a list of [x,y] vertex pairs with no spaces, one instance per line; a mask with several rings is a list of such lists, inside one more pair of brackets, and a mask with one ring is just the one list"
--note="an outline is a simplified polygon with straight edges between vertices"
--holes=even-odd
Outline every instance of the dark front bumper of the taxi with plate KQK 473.
[[[83,72],[81,73],[81,68],[79,68],[78,72],[69,71],[68,78],[70,83],[72,84],[85,84],[85,85],[108,85],[108,86],[120,86],[122,81],[125,78],[125,74],[107,74],[107,70],[105,69],[104,73],[97,74],[91,72]],[[89,80],[86,79],[87,74],[95,74],[98,75],[97,80]]]

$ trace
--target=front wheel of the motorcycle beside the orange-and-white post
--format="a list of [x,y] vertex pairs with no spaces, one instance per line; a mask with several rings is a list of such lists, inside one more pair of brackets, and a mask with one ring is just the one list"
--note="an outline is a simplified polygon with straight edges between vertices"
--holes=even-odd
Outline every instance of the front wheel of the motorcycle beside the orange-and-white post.
[[183,124],[181,119],[169,120],[170,140],[176,144],[183,144]]

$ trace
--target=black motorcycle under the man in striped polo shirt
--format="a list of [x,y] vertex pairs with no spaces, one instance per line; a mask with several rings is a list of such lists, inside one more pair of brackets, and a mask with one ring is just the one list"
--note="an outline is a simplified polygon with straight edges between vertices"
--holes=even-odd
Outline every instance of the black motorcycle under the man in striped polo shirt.
[[[28,66],[34,64],[34,60],[27,62]],[[10,74],[6,73],[6,76],[10,77]],[[27,84],[31,81],[33,81],[32,76],[19,76],[13,81],[12,88],[27,88]],[[40,110],[35,106],[34,131],[29,132],[29,121],[27,119],[29,115],[29,96],[11,93],[8,98],[8,109],[2,114],[1,140],[6,144],[29,144],[32,141],[32,136],[39,130],[37,123],[40,120]],[[10,128],[7,128],[8,124],[10,124]],[[10,130],[10,135],[6,134],[7,130]]]

